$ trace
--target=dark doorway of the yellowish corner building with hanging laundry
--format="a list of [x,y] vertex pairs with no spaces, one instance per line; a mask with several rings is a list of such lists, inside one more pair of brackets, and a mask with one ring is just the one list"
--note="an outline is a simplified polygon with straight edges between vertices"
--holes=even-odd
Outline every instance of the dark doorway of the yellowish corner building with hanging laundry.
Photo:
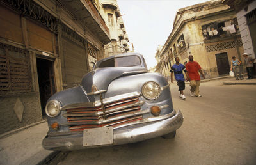
[[226,75],[230,72],[227,52],[215,54],[219,75]]

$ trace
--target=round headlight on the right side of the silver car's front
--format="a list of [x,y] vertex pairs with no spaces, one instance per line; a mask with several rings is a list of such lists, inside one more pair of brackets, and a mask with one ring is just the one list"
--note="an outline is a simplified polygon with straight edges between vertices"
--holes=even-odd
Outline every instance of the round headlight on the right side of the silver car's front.
[[147,98],[149,100],[154,100],[157,97],[159,97],[159,95],[161,93],[161,88],[154,81],[149,81],[149,82],[143,84],[141,91],[145,98]]

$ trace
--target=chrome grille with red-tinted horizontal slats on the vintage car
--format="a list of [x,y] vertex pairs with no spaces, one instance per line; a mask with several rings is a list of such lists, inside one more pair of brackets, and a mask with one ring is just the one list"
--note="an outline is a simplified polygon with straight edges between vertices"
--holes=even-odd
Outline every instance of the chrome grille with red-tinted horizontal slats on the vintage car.
[[143,112],[140,106],[144,103],[139,100],[140,93],[131,93],[126,95],[127,98],[113,97],[111,101],[105,99],[103,101],[104,111],[100,104],[80,104],[63,107],[66,111],[63,116],[67,118],[67,123],[61,125],[68,125],[70,131],[83,131],[84,129],[91,129],[97,127],[117,126],[136,120],[142,119]]

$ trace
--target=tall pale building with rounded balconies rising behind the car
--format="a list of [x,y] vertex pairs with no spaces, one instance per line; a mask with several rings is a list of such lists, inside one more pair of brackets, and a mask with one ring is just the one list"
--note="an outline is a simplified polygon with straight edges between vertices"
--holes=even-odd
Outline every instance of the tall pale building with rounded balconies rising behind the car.
[[95,4],[103,19],[106,21],[111,38],[111,42],[104,45],[104,58],[115,54],[129,52],[129,39],[117,1],[99,0],[95,1]]

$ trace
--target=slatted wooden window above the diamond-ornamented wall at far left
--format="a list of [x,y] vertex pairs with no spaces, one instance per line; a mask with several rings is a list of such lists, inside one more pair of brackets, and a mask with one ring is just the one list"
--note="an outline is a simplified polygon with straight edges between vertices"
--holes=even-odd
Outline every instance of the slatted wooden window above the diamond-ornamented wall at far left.
[[28,52],[0,43],[0,95],[33,91]]

